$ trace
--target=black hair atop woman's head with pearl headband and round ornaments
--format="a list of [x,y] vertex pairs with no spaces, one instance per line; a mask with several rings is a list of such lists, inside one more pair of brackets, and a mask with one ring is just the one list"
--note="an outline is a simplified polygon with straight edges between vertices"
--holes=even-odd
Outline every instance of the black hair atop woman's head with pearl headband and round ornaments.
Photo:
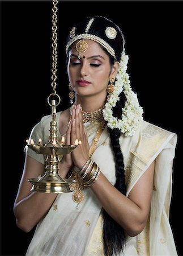
[[121,60],[124,51],[124,35],[120,28],[103,16],[90,16],[77,23],[67,38],[66,54],[77,40],[90,39],[104,47],[115,60]]

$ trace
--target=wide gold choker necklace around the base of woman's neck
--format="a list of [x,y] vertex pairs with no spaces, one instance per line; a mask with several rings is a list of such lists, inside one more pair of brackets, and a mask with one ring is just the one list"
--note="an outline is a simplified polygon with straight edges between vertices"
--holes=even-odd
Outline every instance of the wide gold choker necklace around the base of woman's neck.
[[[71,109],[70,109],[70,113],[72,114],[73,113],[73,108],[74,108],[74,105],[71,106]],[[104,109],[104,106],[100,109],[97,109],[93,112],[84,112],[82,111],[82,115],[83,115],[83,122],[84,123],[87,123],[87,122],[102,122],[104,121],[104,117],[103,117],[103,109]]]

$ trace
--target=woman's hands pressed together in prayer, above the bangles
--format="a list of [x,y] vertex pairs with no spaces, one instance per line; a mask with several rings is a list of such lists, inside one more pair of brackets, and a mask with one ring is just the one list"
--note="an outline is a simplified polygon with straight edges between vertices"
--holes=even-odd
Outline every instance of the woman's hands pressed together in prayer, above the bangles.
[[75,111],[75,118],[71,126],[71,144],[74,144],[75,140],[78,139],[78,147],[71,152],[71,156],[74,165],[81,169],[89,158],[90,146],[86,129],[83,125],[82,108],[80,105],[75,105],[73,110]]

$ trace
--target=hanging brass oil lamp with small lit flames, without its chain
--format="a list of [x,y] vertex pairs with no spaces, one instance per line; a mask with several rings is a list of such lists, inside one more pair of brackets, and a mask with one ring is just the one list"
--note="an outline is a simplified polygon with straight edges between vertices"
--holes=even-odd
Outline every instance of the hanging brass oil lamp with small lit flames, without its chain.
[[31,191],[44,193],[71,192],[70,185],[76,180],[63,179],[58,172],[59,155],[70,154],[76,145],[58,143],[56,122],[56,101],[52,100],[52,122],[50,122],[50,136],[47,144],[42,144],[41,139],[35,144],[31,139],[27,146],[37,154],[47,155],[45,159],[45,174],[28,179],[33,184]]

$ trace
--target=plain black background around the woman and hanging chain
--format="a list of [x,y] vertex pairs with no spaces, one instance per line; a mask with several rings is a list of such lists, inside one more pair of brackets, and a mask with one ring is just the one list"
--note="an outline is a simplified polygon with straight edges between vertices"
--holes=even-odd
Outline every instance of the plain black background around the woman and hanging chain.
[[[101,4],[101,6],[100,6]],[[182,251],[182,1],[60,1],[57,93],[70,106],[66,35],[86,15],[105,15],[124,32],[131,86],[144,119],[178,134],[170,222]],[[66,15],[64,17],[64,15]],[[1,255],[24,255],[33,235],[12,212],[25,139],[50,114],[52,1],[1,1]]]

